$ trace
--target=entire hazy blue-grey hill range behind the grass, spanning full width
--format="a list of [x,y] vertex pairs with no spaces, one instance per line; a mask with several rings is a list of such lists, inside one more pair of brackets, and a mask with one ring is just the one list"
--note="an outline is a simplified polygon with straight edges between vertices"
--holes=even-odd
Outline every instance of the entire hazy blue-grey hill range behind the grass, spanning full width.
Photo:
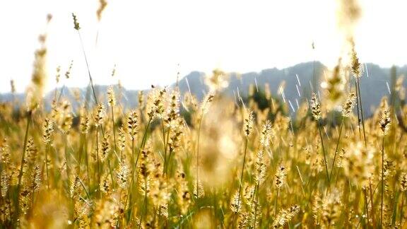
[[[281,96],[278,94],[278,86],[281,82],[285,81],[285,101],[291,102],[293,107],[297,107],[297,101],[300,102],[304,98],[309,97],[312,91],[311,87],[317,87],[317,80],[314,79],[313,76],[323,77],[324,69],[325,66],[316,61],[296,64],[295,66],[290,66],[285,69],[264,69],[260,72],[249,72],[245,74],[232,73],[230,74],[229,86],[224,89],[224,93],[232,98],[236,98],[237,93],[241,96],[247,95],[248,88],[251,84],[256,84],[259,90],[264,90],[264,84],[269,83],[271,93],[275,96]],[[396,69],[397,76],[400,74],[407,76],[407,66],[399,66]],[[377,64],[365,64],[360,90],[367,115],[372,113],[372,108],[379,104],[380,99],[384,95],[389,95],[387,83],[391,83],[390,71],[391,69],[381,68]],[[407,87],[407,79],[403,84]],[[175,83],[172,84],[171,87],[174,86]],[[72,101],[74,108],[78,107],[78,104],[76,104],[73,99],[73,91],[75,90],[78,91],[81,98],[85,98],[86,96],[86,88],[64,88],[64,96]],[[95,86],[95,90],[98,95],[105,95],[107,86]],[[204,84],[204,73],[192,71],[187,76],[184,76],[184,78],[179,80],[179,90],[181,90],[182,94],[190,90],[197,98],[203,98],[208,90]],[[301,96],[298,95],[298,91]],[[122,105],[124,105],[124,107],[135,107],[137,105],[137,95],[138,90],[123,90]],[[15,96],[19,100],[23,100],[24,98],[23,94],[17,94]],[[45,96],[47,107],[49,107],[53,96],[53,92]],[[0,101],[10,101],[12,98],[13,95],[11,95],[11,93],[0,95]],[[92,98],[92,96],[90,96],[90,98]]]

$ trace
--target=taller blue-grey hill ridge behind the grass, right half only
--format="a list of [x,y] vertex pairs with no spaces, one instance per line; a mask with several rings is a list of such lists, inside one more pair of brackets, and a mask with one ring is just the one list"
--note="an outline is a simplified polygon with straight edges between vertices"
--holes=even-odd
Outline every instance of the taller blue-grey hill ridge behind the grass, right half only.
[[[360,93],[362,95],[364,112],[367,115],[372,114],[374,107],[380,102],[380,99],[384,95],[389,95],[387,83],[391,84],[390,80],[390,68],[381,68],[377,64],[366,64],[365,71],[363,72]],[[314,70],[315,69],[315,70]],[[318,83],[313,79],[314,71],[316,76],[323,77],[323,71],[326,67],[320,62],[306,62],[302,64],[296,64],[286,69],[264,69],[260,72],[249,72],[246,74],[231,74],[230,83],[228,88],[225,88],[225,93],[231,96],[237,96],[239,91],[241,96],[247,95],[248,88],[251,84],[257,84],[259,90],[264,90],[264,84],[269,83],[271,93],[276,96],[278,94],[278,86],[282,81],[285,81],[285,100],[291,102],[293,107],[296,108],[296,100],[300,102],[304,96],[309,98],[312,92],[311,87],[316,88]],[[367,69],[367,71],[366,71]],[[407,66],[397,67],[397,76],[403,74],[407,76]],[[367,76],[368,75],[368,76]],[[298,79],[297,79],[298,76]],[[351,78],[353,81],[353,78]],[[201,72],[191,72],[191,74],[185,76],[182,81],[179,81],[179,88],[182,93],[188,91],[187,81],[191,93],[198,98],[202,98],[206,93],[207,88],[204,85],[204,74]],[[300,83],[298,83],[300,81]],[[312,86],[311,86],[312,85]],[[403,85],[407,87],[407,79],[403,81]],[[298,90],[300,95],[298,95]]]

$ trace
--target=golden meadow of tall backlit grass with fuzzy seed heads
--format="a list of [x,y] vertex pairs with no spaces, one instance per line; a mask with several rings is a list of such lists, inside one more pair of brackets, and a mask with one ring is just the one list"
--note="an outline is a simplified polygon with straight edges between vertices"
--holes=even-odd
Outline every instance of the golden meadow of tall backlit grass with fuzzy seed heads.
[[25,101],[0,106],[1,228],[406,227],[403,78],[364,117],[353,43],[349,63],[290,113],[268,85],[223,95],[220,70],[203,100],[153,87],[134,109],[117,102],[121,87],[96,92],[89,71],[79,109],[57,87],[46,109],[45,41]]

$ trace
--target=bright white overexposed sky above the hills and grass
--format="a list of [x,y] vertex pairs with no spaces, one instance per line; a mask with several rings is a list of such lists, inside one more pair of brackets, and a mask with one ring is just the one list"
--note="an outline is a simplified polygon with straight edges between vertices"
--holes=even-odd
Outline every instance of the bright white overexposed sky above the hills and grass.
[[[107,2],[100,23],[95,13],[98,0],[1,3],[0,92],[10,90],[11,78],[18,91],[28,86],[47,13],[53,15],[47,30],[47,90],[55,86],[57,66],[63,75],[71,59],[73,70],[66,85],[88,84],[72,12],[81,25],[95,83],[116,83],[117,78],[110,76],[116,64],[117,77],[130,89],[169,85],[177,71],[181,76],[215,68],[244,73],[314,58],[333,66],[343,47],[336,27],[336,0]],[[406,64],[407,1],[361,0],[360,6],[355,40],[361,61]]]

